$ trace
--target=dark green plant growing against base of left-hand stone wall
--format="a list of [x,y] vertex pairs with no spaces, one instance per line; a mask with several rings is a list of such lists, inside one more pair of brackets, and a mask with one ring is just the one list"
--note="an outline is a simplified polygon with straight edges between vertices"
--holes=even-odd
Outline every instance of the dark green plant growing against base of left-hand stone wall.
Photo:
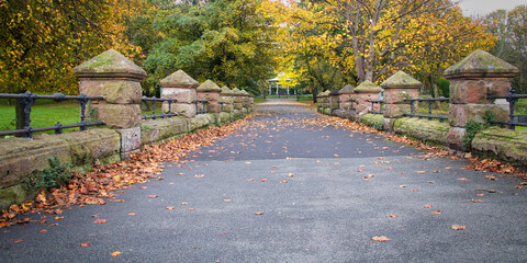
[[71,164],[61,163],[58,157],[48,159],[49,168],[43,171],[35,171],[25,179],[26,187],[30,192],[40,190],[49,190],[66,184],[71,178]]

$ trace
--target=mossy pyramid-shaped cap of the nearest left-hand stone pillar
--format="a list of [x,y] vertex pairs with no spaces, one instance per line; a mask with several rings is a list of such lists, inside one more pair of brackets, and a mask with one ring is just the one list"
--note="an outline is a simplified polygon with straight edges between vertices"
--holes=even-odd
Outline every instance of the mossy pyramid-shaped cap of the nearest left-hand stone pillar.
[[115,49],[109,49],[74,68],[77,78],[132,79],[142,81],[146,72]]

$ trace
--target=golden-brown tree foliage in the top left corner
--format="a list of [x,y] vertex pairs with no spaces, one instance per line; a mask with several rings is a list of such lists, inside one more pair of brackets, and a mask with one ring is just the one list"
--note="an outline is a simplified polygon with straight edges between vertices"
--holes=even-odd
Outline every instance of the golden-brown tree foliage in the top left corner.
[[[128,5],[133,3],[133,5]],[[116,48],[133,55],[126,19],[141,0],[8,0],[0,2],[3,92],[77,93],[72,68]]]

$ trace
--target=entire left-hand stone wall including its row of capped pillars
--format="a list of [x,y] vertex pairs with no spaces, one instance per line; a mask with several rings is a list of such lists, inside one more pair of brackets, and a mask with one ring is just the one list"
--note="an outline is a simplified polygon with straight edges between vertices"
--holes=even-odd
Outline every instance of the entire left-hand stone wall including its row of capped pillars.
[[[171,112],[179,116],[141,121],[139,82],[146,73],[123,55],[110,49],[81,64],[74,72],[80,80],[81,93],[104,96],[103,101],[90,103],[87,112],[94,112],[89,117],[103,121],[109,128],[63,135],[40,134],[33,139],[0,139],[0,209],[32,197],[24,180],[35,171],[48,168],[49,158],[58,157],[63,163],[71,163],[75,170],[89,171],[96,162],[120,161],[142,146],[240,118],[251,106],[248,93],[235,89],[233,94],[238,96],[234,110],[231,93],[227,98],[220,98],[222,90],[212,81],[199,89],[199,82],[178,70],[161,80],[161,87],[164,96],[177,100]],[[197,90],[203,95],[201,99],[211,102],[206,114],[195,114]],[[218,101],[229,102],[223,112]],[[167,103],[164,103],[162,111],[168,113]]]

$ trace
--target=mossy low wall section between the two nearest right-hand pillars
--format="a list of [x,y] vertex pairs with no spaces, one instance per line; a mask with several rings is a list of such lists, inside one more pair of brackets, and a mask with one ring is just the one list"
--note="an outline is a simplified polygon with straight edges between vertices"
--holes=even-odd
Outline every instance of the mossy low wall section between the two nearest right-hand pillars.
[[437,121],[402,117],[393,124],[393,132],[408,135],[423,141],[447,145],[447,135],[450,130],[448,123]]

